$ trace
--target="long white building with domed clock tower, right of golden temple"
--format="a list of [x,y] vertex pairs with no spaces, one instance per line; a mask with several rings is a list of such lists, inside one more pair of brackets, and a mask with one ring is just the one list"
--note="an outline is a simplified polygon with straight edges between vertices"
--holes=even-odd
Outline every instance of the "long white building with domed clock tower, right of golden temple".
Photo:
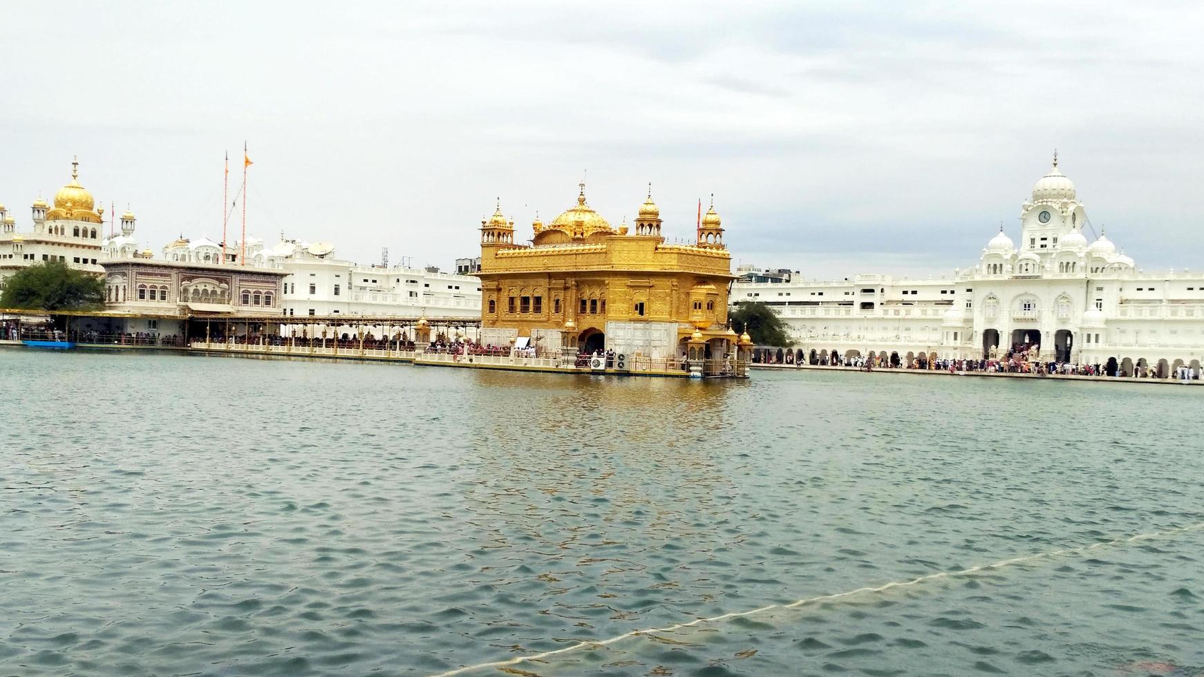
[[737,281],[792,333],[795,360],[868,356],[907,363],[1003,357],[1100,364],[1168,378],[1204,362],[1204,273],[1147,273],[1103,232],[1088,244],[1085,207],[1054,167],[1021,204],[1019,247],[1001,228],[978,265],[936,279],[858,274],[838,281]]

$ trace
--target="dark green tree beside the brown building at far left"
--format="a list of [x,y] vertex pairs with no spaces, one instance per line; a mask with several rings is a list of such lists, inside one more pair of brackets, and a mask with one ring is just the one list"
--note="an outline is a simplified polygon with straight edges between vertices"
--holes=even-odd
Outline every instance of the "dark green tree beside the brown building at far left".
[[26,310],[93,310],[105,301],[100,278],[67,267],[61,261],[43,261],[23,268],[5,281],[0,308]]

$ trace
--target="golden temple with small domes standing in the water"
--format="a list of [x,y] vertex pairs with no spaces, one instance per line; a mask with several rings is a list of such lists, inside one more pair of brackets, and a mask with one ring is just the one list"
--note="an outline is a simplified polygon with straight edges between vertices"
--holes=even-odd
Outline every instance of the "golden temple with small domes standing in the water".
[[714,198],[696,242],[668,243],[661,225],[651,186],[632,228],[594,210],[583,183],[577,204],[548,224],[536,218],[530,244],[520,244],[498,201],[480,222],[482,340],[631,360],[734,360],[748,339],[727,327],[734,275]]

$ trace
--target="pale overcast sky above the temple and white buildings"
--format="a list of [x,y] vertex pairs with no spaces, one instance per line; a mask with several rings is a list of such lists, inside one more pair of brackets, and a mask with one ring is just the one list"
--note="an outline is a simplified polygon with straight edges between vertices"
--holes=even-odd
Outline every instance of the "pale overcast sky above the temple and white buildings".
[[[158,254],[248,228],[449,268],[495,197],[531,236],[671,238],[713,192],[733,266],[940,274],[1050,167],[1139,267],[1204,267],[1200,2],[24,2],[0,36],[0,201],[81,183]],[[229,239],[237,239],[235,210]],[[1091,233],[1088,232],[1088,238]]]

